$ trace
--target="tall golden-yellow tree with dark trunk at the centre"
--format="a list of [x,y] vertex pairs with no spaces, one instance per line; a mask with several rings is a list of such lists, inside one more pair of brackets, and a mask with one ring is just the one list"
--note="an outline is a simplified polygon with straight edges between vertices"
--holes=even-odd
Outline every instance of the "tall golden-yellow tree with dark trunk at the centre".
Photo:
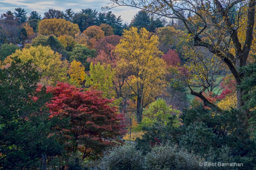
[[156,100],[166,87],[164,75],[166,63],[159,58],[162,52],[158,48],[158,37],[145,28],[131,27],[124,30],[123,39],[116,46],[119,57],[116,71],[123,74],[125,82],[137,98],[137,121],[142,120],[142,111]]

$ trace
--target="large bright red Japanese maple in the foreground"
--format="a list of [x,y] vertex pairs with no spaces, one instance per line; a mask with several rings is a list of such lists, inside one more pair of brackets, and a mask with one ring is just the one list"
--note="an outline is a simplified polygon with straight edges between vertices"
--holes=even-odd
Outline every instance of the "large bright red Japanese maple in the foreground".
[[84,153],[84,159],[111,144],[109,139],[124,134],[124,118],[117,107],[111,106],[113,100],[101,97],[102,92],[82,90],[65,83],[48,86],[47,92],[51,92],[53,98],[47,106],[50,118],[58,115],[70,118],[69,129],[60,129],[66,149]]

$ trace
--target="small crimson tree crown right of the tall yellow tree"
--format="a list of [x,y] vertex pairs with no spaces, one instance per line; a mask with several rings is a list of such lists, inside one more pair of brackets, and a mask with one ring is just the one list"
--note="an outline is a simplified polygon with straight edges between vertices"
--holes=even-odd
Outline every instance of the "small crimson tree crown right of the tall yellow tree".
[[180,63],[180,57],[173,49],[169,49],[169,51],[165,55],[162,55],[161,58],[166,62],[167,67],[177,66],[177,64]]

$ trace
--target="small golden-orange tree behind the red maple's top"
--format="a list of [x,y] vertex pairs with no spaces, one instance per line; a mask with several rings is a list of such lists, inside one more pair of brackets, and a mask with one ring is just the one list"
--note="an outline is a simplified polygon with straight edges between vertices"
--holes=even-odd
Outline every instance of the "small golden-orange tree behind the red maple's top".
[[76,81],[76,84],[81,85],[85,79],[84,66],[81,62],[74,60],[70,63],[68,74],[72,81]]

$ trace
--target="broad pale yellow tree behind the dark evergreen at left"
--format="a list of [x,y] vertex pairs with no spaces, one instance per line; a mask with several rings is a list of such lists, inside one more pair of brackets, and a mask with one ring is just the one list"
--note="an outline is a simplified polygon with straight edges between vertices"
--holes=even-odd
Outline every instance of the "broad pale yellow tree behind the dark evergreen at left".
[[[15,56],[20,58],[22,62],[32,61],[41,75],[40,84],[42,85],[53,85],[58,81],[67,80],[68,62],[66,60],[61,61],[61,55],[54,53],[49,46],[39,45],[24,48],[22,51],[16,50],[15,53],[6,58],[6,61],[11,62],[11,58]],[[8,64],[7,62],[4,63]]]

